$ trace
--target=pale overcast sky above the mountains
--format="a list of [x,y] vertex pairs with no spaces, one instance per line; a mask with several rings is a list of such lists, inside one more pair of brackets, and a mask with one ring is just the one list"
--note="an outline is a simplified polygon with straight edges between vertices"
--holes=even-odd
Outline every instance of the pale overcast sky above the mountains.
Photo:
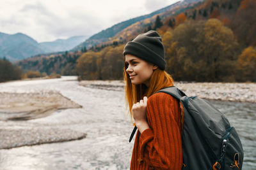
[[38,42],[92,36],[179,0],[0,0],[0,32]]

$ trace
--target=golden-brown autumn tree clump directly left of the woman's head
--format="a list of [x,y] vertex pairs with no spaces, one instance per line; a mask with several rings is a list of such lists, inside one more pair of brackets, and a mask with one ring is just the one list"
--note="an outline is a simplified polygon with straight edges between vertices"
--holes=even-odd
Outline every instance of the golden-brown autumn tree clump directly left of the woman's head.
[[106,46],[99,52],[86,52],[77,59],[82,80],[120,80],[123,77],[124,45]]

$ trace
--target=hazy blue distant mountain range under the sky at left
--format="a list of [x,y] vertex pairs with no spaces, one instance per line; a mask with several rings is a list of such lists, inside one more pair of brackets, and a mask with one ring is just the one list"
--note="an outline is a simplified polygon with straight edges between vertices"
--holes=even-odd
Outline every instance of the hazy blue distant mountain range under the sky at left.
[[0,58],[6,57],[10,61],[15,61],[40,53],[67,51],[79,45],[86,38],[88,36],[74,36],[68,39],[38,43],[35,39],[20,32],[17,34],[0,32]]

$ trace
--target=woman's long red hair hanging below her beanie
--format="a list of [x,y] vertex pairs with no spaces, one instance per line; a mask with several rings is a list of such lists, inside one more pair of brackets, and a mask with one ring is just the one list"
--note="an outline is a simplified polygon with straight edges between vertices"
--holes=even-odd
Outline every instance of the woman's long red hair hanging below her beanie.
[[125,81],[125,103],[129,107],[129,113],[132,118],[132,105],[143,99],[144,96],[150,97],[152,94],[156,93],[158,90],[164,87],[169,87],[173,85],[173,78],[170,74],[166,73],[159,68],[155,69],[151,78],[149,86],[144,84],[132,85],[129,74],[126,72],[124,66],[124,81]]

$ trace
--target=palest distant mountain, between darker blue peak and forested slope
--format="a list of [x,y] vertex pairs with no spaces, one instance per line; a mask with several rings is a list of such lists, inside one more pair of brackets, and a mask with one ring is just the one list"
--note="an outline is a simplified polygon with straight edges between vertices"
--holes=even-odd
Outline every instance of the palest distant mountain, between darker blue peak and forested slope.
[[74,46],[85,41],[86,38],[88,38],[88,36],[73,36],[68,39],[56,39],[55,41],[40,43],[40,47],[44,49],[46,53],[63,52],[71,50]]

